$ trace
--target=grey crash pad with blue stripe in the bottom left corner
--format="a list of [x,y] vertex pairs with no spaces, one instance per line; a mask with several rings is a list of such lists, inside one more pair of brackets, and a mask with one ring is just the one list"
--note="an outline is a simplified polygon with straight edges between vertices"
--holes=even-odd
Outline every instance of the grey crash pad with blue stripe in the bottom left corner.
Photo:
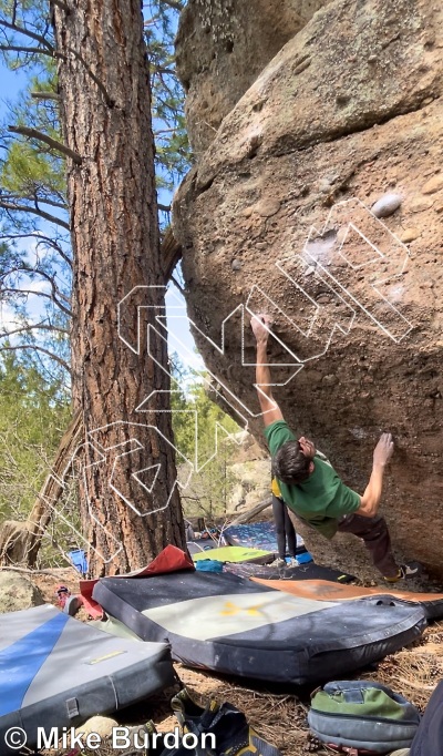
[[[135,643],[89,627],[52,605],[0,614],[0,753],[22,727],[75,727],[174,683],[166,643]],[[7,748],[4,750],[4,748]]]

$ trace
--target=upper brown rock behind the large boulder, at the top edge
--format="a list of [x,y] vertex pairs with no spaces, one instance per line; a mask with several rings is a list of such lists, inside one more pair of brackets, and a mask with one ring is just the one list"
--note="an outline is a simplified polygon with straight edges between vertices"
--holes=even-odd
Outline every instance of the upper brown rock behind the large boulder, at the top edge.
[[225,118],[274,55],[328,0],[190,0],[176,39],[194,152],[202,155]]

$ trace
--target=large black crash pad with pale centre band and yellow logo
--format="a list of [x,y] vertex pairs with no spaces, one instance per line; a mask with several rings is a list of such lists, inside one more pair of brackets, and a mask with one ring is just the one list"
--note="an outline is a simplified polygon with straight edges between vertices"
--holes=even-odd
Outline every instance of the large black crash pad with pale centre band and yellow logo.
[[419,605],[312,601],[226,573],[103,578],[93,599],[193,667],[275,683],[342,676],[421,635]]

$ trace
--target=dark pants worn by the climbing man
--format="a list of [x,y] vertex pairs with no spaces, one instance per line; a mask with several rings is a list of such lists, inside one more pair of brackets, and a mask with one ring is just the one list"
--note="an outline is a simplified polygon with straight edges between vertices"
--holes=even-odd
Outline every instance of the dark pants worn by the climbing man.
[[340,533],[352,533],[364,541],[373,564],[384,578],[395,578],[399,566],[394,560],[391,538],[384,518],[364,518],[361,514],[344,514],[339,520]]

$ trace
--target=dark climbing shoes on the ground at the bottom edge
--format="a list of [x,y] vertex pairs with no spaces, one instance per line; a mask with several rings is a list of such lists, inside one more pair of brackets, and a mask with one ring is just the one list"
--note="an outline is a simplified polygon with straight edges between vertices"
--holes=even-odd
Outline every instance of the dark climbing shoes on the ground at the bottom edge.
[[[194,733],[203,746],[202,753],[208,756],[281,756],[275,746],[248,725],[245,714],[231,704],[218,705],[212,699],[203,708],[183,689],[171,705],[184,735]],[[196,753],[200,753],[198,748]]]

